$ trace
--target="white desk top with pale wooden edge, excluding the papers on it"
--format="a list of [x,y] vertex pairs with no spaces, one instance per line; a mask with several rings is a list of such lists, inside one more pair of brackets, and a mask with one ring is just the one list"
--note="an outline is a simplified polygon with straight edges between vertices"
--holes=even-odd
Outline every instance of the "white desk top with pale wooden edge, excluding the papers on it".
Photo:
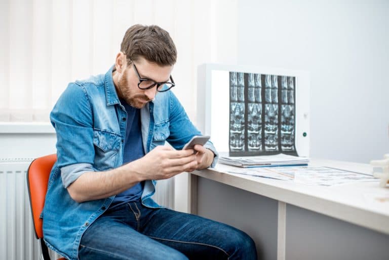
[[[329,160],[312,159],[309,166],[327,166],[363,173],[372,171],[368,164]],[[192,173],[389,234],[389,188],[380,188],[378,180],[322,187],[223,172],[231,167],[218,164],[215,168]]]

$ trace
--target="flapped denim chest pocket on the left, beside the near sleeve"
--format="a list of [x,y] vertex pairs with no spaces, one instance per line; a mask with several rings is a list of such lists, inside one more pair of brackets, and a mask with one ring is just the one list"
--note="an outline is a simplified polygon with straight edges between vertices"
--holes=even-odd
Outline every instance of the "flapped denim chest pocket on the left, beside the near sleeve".
[[95,168],[99,171],[115,168],[121,136],[106,130],[94,129],[93,144],[95,146]]

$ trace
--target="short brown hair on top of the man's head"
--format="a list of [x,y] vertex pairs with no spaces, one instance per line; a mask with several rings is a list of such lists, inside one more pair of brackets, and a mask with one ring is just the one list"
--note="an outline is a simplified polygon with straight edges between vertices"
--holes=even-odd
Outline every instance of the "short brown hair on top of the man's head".
[[136,24],[128,28],[124,35],[121,51],[126,54],[127,62],[139,57],[158,65],[174,65],[177,59],[176,46],[169,32],[157,25]]

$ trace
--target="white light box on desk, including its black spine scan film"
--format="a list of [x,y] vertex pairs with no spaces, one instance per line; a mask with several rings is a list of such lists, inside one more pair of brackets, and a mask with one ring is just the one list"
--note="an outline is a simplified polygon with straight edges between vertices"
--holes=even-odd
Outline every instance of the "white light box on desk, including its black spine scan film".
[[198,68],[197,125],[230,156],[309,156],[309,73],[255,66]]

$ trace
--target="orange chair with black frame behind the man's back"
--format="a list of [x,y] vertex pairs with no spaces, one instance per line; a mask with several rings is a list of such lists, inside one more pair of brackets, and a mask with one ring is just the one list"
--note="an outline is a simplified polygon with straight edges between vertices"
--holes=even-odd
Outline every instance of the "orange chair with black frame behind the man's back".
[[[42,213],[45,205],[47,184],[54,163],[57,161],[57,155],[47,155],[33,160],[27,170],[27,187],[30,198],[30,208],[32,220],[35,228],[35,236],[39,239],[44,260],[50,260],[49,250],[43,240]],[[58,260],[65,260],[59,258]]]

